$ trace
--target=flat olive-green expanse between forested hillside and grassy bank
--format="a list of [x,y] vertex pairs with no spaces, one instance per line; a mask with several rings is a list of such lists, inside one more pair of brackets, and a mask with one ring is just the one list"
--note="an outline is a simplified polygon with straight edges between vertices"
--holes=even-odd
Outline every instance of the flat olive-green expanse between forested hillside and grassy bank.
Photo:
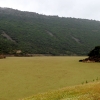
[[100,79],[100,63],[80,63],[80,59],[84,57],[0,59],[0,100],[18,100]]

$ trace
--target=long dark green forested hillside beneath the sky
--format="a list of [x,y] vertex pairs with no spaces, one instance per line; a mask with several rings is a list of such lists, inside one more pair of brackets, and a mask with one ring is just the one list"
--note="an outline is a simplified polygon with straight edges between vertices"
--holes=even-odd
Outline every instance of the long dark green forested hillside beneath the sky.
[[100,22],[0,8],[0,53],[87,55],[100,45]]

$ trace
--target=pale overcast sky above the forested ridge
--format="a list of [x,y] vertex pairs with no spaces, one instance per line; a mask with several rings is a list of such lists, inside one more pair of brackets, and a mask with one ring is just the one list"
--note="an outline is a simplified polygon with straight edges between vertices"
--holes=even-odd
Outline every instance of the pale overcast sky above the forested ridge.
[[100,21],[100,0],[0,0],[1,7]]

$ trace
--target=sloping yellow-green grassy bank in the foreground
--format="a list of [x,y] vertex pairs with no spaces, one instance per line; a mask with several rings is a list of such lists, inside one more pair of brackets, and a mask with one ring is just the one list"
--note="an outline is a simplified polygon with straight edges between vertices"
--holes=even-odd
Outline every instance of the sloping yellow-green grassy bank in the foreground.
[[22,100],[100,100],[100,82],[67,87]]

